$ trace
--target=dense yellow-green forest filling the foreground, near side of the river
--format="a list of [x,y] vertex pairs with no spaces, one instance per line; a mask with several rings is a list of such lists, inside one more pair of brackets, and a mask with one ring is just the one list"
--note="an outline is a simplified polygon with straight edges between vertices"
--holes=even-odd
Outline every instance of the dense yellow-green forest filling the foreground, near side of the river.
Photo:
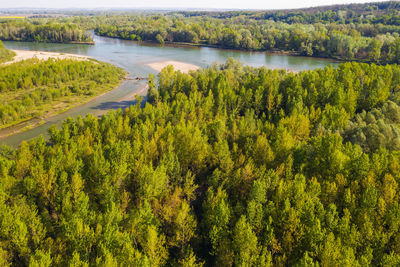
[[168,67],[1,150],[1,265],[397,266],[399,72]]

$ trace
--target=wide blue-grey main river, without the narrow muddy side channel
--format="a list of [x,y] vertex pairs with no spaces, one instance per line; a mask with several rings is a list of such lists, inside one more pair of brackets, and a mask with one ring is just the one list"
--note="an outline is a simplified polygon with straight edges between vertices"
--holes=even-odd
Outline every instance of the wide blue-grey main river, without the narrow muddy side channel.
[[129,40],[120,40],[94,36],[95,45],[80,44],[46,44],[5,42],[12,49],[30,49],[55,51],[73,54],[82,54],[107,61],[126,68],[130,73],[144,76],[151,72],[143,66],[146,63],[176,60],[201,67],[213,63],[224,63],[232,57],[251,66],[267,66],[270,68],[284,68],[306,70],[322,68],[337,63],[320,58],[297,57],[288,55],[268,54],[265,52],[248,52],[238,50],[222,50],[208,47],[168,46],[141,43]]

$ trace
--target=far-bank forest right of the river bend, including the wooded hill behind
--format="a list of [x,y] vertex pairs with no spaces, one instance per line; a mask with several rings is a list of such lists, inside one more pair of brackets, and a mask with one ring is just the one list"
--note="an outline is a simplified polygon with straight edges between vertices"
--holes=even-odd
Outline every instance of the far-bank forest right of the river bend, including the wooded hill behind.
[[[96,34],[158,43],[288,51],[378,63],[400,58],[398,2],[321,11],[172,12],[93,18]],[[363,11],[359,11],[359,9]]]

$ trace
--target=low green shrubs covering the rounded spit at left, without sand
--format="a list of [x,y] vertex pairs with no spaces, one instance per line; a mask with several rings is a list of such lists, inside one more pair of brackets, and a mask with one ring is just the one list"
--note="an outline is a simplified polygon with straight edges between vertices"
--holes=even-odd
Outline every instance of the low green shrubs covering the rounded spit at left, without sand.
[[0,128],[81,103],[113,89],[123,75],[97,61],[30,59],[0,66]]

